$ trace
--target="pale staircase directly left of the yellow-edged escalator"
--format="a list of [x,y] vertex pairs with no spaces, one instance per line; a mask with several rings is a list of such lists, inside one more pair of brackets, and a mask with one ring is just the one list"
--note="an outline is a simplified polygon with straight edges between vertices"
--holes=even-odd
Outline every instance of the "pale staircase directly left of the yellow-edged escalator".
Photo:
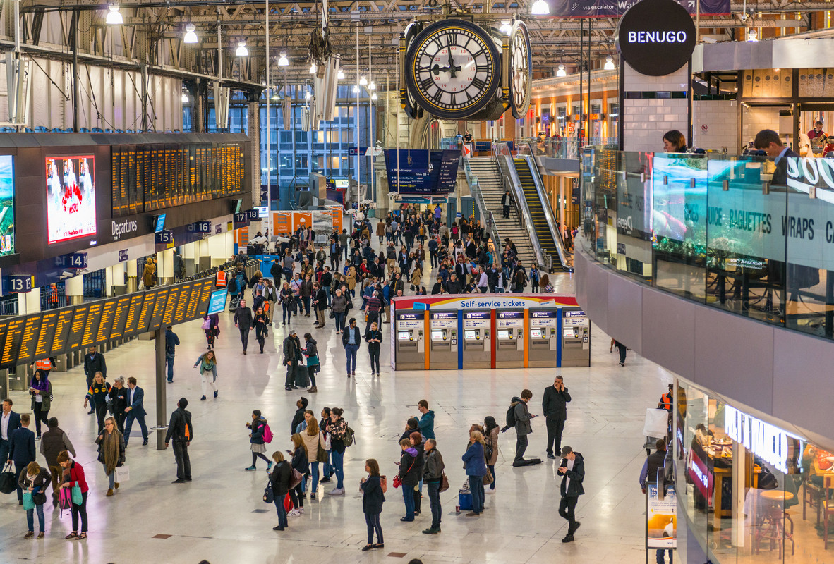
[[504,212],[501,207],[504,181],[501,177],[498,162],[495,161],[495,157],[470,157],[469,162],[473,174],[478,177],[478,186],[487,207],[482,212],[492,212],[492,216],[495,218],[495,227],[501,239],[500,242],[496,243],[495,251],[502,252],[504,250],[504,240],[509,237],[515,243],[518,257],[525,267],[530,268],[530,265],[536,262],[533,243],[530,242],[530,233],[521,227],[521,219],[518,217],[518,212],[515,211],[515,206],[510,207],[510,218],[504,219]]

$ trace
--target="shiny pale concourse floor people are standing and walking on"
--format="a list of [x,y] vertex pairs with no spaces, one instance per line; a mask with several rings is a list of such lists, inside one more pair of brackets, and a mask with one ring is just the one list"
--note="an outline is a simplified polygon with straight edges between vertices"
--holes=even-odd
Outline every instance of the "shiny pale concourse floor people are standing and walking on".
[[[554,277],[557,292],[572,289],[569,275]],[[249,353],[241,354],[239,332],[232,314],[221,314],[221,335],[216,343],[219,360],[219,397],[200,402],[200,379],[193,368],[206,350],[200,321],[174,327],[181,341],[177,349],[173,384],[167,385],[165,421],[179,397],[188,398],[193,415],[194,440],[190,447],[193,482],[172,484],[176,477],[173,451],[158,451],[155,437],[142,446],[138,425],[127,451],[131,478],[113,497],[104,497],[107,479],[96,462],[93,443],[95,417],[83,409],[82,368],[53,372],[53,409],[60,427],[71,438],[86,472],[89,537],[64,540],[71,531],[68,512],[58,518],[51,502],[44,507],[47,537],[24,539],[27,531],[23,507],[14,494],[0,497],[0,562],[67,562],[138,564],[147,562],[212,564],[243,562],[409,562],[421,558],[434,562],[645,562],[644,498],[637,483],[646,451],[642,427],[646,408],[655,407],[666,391],[671,374],[629,352],[626,366],[609,352],[610,338],[595,327],[591,333],[590,368],[518,368],[511,370],[446,370],[393,372],[389,358],[390,326],[384,325],[382,375],[369,376],[367,350],[359,349],[357,375],[344,376],[344,349],[334,332],[332,319],[323,329],[313,329],[315,317],[295,317],[291,326],[302,338],[312,332],[319,343],[323,368],[317,377],[318,393],[284,391],[281,367],[284,327],[269,332],[263,355],[254,335]],[[360,324],[364,329],[364,323]],[[153,342],[134,339],[105,354],[108,382],[123,375],[138,378],[145,390],[148,426],[156,422],[153,383]],[[510,398],[527,387],[533,392],[530,412],[541,414],[546,386],[561,374],[573,401],[562,444],[585,457],[585,495],[576,507],[582,527],[575,542],[562,543],[567,523],[558,516],[561,477],[559,460],[545,457],[544,418],[534,419],[526,457],[545,462],[533,467],[511,466],[515,433],[500,435],[496,465],[496,492],[486,494],[480,517],[455,514],[458,489],[465,480],[460,457],[473,422],[492,415],[501,426]],[[319,486],[319,499],[304,503],[301,517],[289,517],[284,532],[274,532],[278,518],[273,505],[261,497],[267,483],[265,463],[258,472],[244,472],[251,463],[248,429],[253,409],[267,417],[275,438],[268,456],[286,450],[289,422],[300,396],[309,408],[343,407],[344,417],[356,432],[356,442],[345,453],[345,495],[326,495],[333,482]],[[14,411],[30,412],[26,392],[12,392]],[[430,526],[429,499],[424,493],[422,515],[414,522],[400,522],[404,504],[400,490],[391,486],[399,461],[397,440],[405,421],[419,415],[417,402],[425,398],[435,411],[438,450],[445,460],[450,489],[441,494],[440,535],[421,534]],[[30,426],[34,429],[34,424]],[[39,443],[37,443],[39,449]],[[382,512],[384,549],[361,552],[366,542],[359,479],[364,460],[374,457],[389,477]],[[43,456],[38,453],[38,462]],[[35,529],[38,531],[37,517]],[[391,560],[394,558],[394,560]],[[652,561],[654,553],[651,554]]]

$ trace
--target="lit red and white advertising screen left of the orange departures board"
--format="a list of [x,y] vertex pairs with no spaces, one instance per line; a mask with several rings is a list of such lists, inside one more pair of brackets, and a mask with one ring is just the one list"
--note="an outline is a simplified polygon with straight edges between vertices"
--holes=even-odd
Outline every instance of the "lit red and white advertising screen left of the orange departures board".
[[96,234],[95,160],[47,157],[47,242]]

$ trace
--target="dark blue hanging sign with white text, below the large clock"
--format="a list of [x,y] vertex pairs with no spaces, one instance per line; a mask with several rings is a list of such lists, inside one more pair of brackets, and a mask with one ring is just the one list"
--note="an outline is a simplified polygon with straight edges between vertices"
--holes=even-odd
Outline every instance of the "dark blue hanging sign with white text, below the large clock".
[[455,192],[460,151],[399,149],[399,168],[397,150],[385,149],[384,152],[391,192],[424,197]]

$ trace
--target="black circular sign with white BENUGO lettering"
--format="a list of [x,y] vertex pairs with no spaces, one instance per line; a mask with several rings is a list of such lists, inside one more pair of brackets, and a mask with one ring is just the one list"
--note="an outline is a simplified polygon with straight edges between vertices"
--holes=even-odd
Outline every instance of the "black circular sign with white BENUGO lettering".
[[620,17],[616,46],[637,72],[662,77],[689,62],[695,35],[695,22],[681,4],[641,0]]

